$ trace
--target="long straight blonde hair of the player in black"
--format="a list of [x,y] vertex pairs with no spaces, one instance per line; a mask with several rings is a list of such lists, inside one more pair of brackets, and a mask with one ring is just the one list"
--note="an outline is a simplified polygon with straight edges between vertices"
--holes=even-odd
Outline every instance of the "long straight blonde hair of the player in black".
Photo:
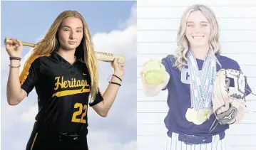
[[[83,23],[83,40],[78,48],[83,49],[83,60],[86,63],[88,68],[90,77],[91,77],[91,99],[94,100],[96,94],[98,92],[98,70],[97,70],[97,60],[93,50],[93,42],[91,40],[91,34],[88,31],[88,26],[83,16],[78,13],[78,11],[63,11],[61,14],[57,16],[55,21],[53,21],[51,27],[48,29],[46,36],[36,43],[36,47],[31,53],[30,58],[34,58],[36,55],[49,55],[53,50],[58,48],[58,28],[60,28],[62,21],[68,17],[76,17],[79,18]],[[76,53],[78,51],[76,48]],[[75,53],[75,55],[76,55]],[[78,57],[77,57],[78,58]],[[28,59],[29,60],[29,59]],[[28,61],[24,64],[24,66],[28,65]]]

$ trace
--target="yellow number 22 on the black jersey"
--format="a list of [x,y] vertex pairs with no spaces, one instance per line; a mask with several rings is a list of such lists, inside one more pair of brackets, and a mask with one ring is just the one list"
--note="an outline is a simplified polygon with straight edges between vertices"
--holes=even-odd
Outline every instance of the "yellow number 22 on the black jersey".
[[[83,119],[83,117],[86,116],[87,113],[87,105],[83,105],[81,103],[76,103],[74,105],[74,108],[78,108],[78,111],[73,113],[72,116],[72,121],[71,122],[76,122],[76,123],[86,123],[86,119]],[[82,114],[83,113],[83,114]],[[81,118],[78,118],[79,115],[81,115]]]

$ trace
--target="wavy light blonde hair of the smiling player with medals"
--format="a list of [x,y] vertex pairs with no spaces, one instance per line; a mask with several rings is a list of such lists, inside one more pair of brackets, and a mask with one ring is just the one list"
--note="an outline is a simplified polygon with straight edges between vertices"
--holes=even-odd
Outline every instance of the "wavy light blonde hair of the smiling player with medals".
[[177,48],[174,53],[175,63],[173,64],[173,67],[178,68],[179,70],[181,70],[183,66],[187,65],[188,63],[186,53],[189,50],[190,43],[188,41],[188,38],[186,38],[185,36],[185,29],[187,26],[188,16],[190,16],[193,11],[201,11],[205,18],[207,18],[210,24],[209,49],[213,50],[215,54],[221,53],[221,47],[219,43],[220,31],[215,14],[208,6],[205,5],[197,4],[190,6],[188,9],[185,10],[180,20],[180,26],[177,33]]

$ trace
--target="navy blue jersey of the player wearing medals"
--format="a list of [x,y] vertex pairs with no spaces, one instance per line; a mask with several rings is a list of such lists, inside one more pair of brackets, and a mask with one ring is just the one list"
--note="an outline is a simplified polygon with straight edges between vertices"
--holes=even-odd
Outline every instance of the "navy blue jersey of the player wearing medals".
[[[240,70],[240,65],[231,58],[226,56],[216,54],[217,60],[219,60],[221,67],[223,69],[234,69]],[[203,68],[204,60],[196,58],[198,69],[201,71]],[[163,90],[168,90],[168,114],[165,117],[165,127],[168,129],[168,135],[172,132],[178,134],[191,134],[191,135],[215,135],[224,132],[229,128],[228,124],[220,125],[218,124],[215,130],[209,134],[209,129],[213,122],[215,121],[215,115],[211,114],[210,119],[203,124],[196,125],[192,122],[188,122],[185,118],[185,114],[188,108],[191,107],[190,100],[190,73],[188,71],[188,66],[180,71],[178,68],[174,68],[173,64],[175,62],[174,55],[167,55],[162,59],[162,63],[165,66],[165,70],[169,73],[171,80],[168,85]],[[219,71],[220,65],[217,65],[217,70]],[[230,82],[230,86],[234,86],[234,82]],[[250,86],[246,84],[246,89],[251,91]],[[246,95],[250,92],[246,91]]]

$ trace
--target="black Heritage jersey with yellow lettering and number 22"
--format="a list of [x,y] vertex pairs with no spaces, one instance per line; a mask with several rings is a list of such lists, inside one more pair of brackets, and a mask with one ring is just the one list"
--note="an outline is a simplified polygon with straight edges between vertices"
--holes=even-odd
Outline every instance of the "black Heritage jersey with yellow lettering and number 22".
[[86,64],[76,60],[72,65],[52,52],[36,55],[20,75],[21,88],[29,93],[36,89],[39,112],[36,120],[44,129],[76,133],[88,127],[88,105],[103,101],[101,92],[88,104],[91,78]]

